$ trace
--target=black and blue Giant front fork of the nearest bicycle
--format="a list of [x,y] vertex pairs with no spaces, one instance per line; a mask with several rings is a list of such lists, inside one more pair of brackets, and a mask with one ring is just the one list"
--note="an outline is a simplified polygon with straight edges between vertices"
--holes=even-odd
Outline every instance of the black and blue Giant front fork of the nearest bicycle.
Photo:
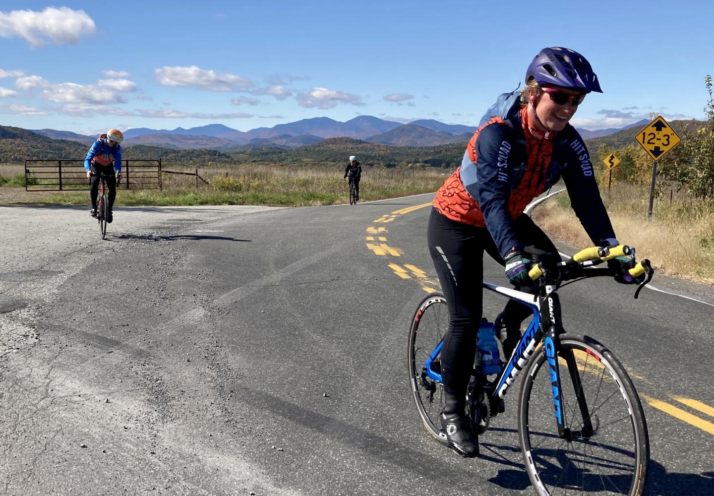
[[[590,438],[593,435],[593,423],[590,420],[590,410],[585,401],[583,394],[583,382],[580,380],[580,371],[578,364],[575,362],[575,355],[572,349],[560,349],[560,334],[563,334],[563,324],[560,320],[560,299],[558,293],[551,292],[545,297],[544,304],[541,306],[540,322],[545,330],[545,339],[543,341],[543,352],[545,353],[546,361],[548,362],[548,373],[550,375],[550,388],[553,392],[553,410],[555,413],[555,422],[558,424],[558,435],[564,440],[570,442],[574,437]],[[580,431],[573,431],[568,426],[568,419],[563,408],[563,387],[560,383],[560,364],[558,356],[565,359],[565,364],[568,367],[570,380],[573,382],[575,390],[575,400],[578,402],[580,415],[583,417],[583,426]]]

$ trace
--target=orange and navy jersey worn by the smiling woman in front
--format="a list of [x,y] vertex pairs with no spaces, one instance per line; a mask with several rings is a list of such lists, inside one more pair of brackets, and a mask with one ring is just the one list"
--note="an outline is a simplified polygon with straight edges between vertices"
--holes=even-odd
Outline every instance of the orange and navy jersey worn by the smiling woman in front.
[[570,204],[596,245],[615,238],[600,198],[588,149],[570,124],[536,135],[518,94],[503,94],[468,142],[461,167],[436,193],[434,207],[449,219],[486,227],[505,255],[523,249],[512,221],[562,177]]

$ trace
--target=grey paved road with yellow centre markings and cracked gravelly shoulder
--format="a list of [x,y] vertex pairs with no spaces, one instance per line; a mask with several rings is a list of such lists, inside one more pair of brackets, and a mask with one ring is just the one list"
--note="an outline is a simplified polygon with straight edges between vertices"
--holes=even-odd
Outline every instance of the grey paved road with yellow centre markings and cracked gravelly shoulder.
[[[104,242],[86,209],[0,207],[0,494],[529,490],[513,393],[477,460],[418,422],[406,330],[437,284],[429,199],[123,208]],[[650,494],[713,494],[713,307],[604,280],[560,294],[646,399]]]

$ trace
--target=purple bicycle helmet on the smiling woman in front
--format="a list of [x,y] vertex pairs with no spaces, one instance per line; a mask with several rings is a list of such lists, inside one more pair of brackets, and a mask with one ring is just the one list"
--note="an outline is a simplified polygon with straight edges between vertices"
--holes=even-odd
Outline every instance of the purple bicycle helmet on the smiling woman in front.
[[538,84],[553,84],[580,89],[585,93],[602,93],[598,76],[584,56],[562,46],[544,48],[538,52],[526,71],[526,83],[535,79]]

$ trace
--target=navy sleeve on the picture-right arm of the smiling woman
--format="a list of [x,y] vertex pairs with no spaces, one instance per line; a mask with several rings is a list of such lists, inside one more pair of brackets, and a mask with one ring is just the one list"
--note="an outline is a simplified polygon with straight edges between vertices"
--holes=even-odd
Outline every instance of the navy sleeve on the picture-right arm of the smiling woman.
[[568,139],[570,154],[563,170],[563,182],[568,189],[570,205],[580,224],[583,224],[583,229],[596,246],[602,246],[606,239],[615,238],[615,231],[600,197],[588,148],[575,129],[571,133]]

